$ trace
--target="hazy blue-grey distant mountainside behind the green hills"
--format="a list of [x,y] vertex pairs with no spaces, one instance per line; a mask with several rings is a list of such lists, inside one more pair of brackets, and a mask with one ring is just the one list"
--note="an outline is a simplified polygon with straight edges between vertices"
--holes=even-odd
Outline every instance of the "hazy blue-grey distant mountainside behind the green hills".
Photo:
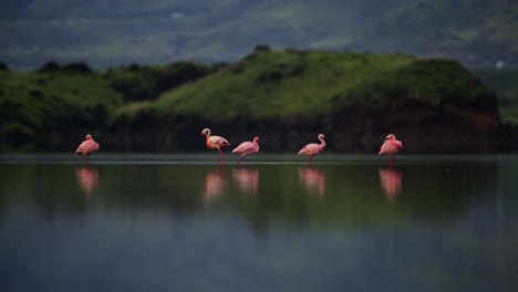
[[219,62],[268,44],[518,65],[517,29],[514,0],[4,0],[0,61]]

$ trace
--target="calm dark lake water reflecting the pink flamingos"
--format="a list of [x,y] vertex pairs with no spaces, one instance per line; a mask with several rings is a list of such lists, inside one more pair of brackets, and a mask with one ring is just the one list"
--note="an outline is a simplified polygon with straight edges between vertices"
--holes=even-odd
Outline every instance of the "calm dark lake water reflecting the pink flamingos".
[[518,291],[518,156],[0,156],[1,291]]

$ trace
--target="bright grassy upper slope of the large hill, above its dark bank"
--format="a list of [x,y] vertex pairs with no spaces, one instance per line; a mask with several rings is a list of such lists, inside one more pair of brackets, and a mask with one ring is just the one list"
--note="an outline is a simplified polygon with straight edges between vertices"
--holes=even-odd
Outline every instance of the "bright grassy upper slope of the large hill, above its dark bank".
[[[120,108],[115,119],[145,113],[215,122],[307,118],[352,107],[382,111],[392,100],[406,97],[435,106],[448,98],[469,104],[487,96],[491,93],[453,61],[258,46],[242,61],[155,102]],[[486,102],[496,104],[495,98]]]

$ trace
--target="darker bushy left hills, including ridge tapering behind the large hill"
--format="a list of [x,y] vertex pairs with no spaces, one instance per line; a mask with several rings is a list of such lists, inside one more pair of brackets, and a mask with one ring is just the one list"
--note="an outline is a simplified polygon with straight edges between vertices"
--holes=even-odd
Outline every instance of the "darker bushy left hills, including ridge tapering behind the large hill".
[[100,133],[124,104],[156,98],[211,67],[178,62],[97,72],[83,63],[49,62],[34,72],[4,69],[0,71],[0,149],[52,148],[77,133]]

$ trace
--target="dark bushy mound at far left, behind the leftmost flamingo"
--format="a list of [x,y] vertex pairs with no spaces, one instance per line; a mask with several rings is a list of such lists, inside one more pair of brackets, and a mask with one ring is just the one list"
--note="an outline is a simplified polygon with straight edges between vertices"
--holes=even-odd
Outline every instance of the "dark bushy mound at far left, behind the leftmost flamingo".
[[123,101],[101,73],[66,69],[30,74],[3,71],[0,88],[0,137],[4,147],[14,148],[33,148],[39,136],[49,143],[73,127],[100,128]]

